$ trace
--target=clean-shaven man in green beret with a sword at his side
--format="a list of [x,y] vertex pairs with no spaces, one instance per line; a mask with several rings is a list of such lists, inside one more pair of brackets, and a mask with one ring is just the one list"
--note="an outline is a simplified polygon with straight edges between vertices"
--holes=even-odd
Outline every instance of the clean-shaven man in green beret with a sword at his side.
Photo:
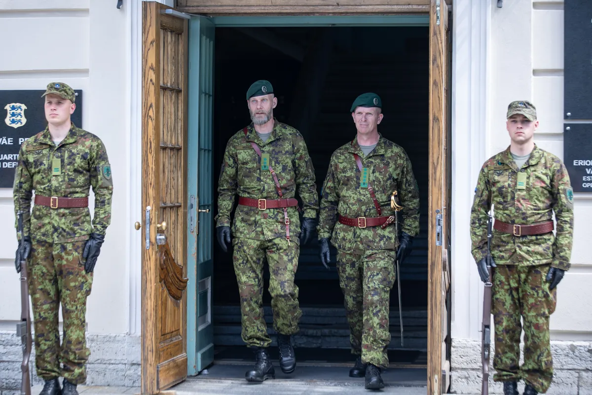
[[[366,388],[384,387],[388,366],[390,291],[419,233],[419,191],[407,153],[378,133],[382,102],[373,93],[353,102],[356,139],[333,152],[321,190],[318,237],[321,262],[329,262],[329,240],[337,248],[337,271],[350,327],[350,377],[366,377]],[[402,222],[391,197],[400,198]],[[401,234],[399,235],[398,226]]]

